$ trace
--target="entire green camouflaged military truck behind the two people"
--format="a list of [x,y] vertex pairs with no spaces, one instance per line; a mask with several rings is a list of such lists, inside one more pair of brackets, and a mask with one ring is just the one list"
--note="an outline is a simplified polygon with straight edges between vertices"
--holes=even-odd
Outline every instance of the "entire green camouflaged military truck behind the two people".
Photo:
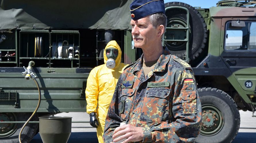
[[[140,57],[141,49],[132,46],[131,2],[0,0],[1,142],[18,142],[37,106],[37,87],[21,74],[30,61],[42,98],[22,142],[38,132],[39,116],[86,111],[86,79],[104,63],[108,41],[119,43],[122,62]],[[193,67],[198,84],[203,122],[196,142],[232,142],[240,125],[238,110],[255,111],[254,3],[225,0],[209,9],[165,3],[163,45]]]

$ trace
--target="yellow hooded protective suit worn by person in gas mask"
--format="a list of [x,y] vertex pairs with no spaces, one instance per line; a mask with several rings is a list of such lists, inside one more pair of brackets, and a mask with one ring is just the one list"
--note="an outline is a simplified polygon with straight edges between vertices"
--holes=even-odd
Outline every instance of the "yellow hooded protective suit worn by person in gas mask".
[[[116,66],[113,69],[109,69],[106,66],[107,48],[118,49],[118,56],[115,60]],[[102,135],[104,132],[105,119],[108,113],[109,104],[112,100],[116,83],[119,76],[122,74],[124,68],[128,65],[121,63],[122,51],[116,41],[110,41],[104,50],[104,63],[93,68],[87,79],[87,85],[85,89],[86,96],[86,112],[90,114],[91,112],[97,113],[96,117],[99,121],[99,126],[97,128],[97,137],[99,143],[103,143]],[[97,108],[98,105],[98,108]]]

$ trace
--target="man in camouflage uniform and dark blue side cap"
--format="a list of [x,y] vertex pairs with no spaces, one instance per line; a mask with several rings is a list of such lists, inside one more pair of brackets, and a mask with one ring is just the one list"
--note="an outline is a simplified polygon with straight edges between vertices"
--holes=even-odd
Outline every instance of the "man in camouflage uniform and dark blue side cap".
[[117,82],[104,142],[193,142],[201,129],[201,103],[190,65],[162,47],[164,1],[135,0],[130,9],[134,44],[143,54]]

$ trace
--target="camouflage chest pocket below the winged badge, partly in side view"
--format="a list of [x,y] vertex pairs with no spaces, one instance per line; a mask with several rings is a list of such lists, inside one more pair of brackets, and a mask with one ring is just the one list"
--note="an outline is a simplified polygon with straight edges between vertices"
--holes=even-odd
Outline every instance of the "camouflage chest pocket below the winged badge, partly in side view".
[[121,114],[121,121],[128,120],[134,93],[135,88],[122,89],[121,102],[119,103],[119,114]]

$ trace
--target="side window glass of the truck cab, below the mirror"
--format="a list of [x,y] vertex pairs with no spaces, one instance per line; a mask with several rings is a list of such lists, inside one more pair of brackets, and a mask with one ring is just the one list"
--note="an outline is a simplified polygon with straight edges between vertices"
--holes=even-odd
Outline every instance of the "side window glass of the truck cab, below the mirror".
[[226,24],[226,50],[256,50],[256,22],[245,22],[245,27]]

